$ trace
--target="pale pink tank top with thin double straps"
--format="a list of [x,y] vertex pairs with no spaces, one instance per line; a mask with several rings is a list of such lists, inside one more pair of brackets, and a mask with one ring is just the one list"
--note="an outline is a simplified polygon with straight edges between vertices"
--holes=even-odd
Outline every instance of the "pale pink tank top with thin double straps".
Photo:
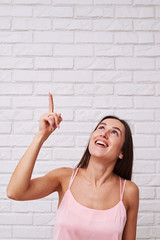
[[126,209],[122,202],[126,180],[120,201],[107,210],[97,210],[78,203],[71,193],[71,184],[78,172],[73,171],[69,188],[64,194],[54,224],[54,240],[121,240],[126,223]]

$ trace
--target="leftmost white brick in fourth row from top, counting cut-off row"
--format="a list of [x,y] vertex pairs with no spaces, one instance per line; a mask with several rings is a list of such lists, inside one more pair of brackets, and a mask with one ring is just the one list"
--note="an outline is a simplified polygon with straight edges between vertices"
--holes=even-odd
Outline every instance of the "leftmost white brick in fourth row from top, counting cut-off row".
[[0,32],[0,43],[31,43],[31,32]]

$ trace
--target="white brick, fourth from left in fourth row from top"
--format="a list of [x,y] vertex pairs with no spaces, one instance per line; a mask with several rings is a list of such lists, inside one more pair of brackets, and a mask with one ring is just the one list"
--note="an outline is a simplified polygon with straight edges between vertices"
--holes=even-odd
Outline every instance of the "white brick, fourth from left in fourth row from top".
[[115,43],[119,44],[146,44],[154,43],[152,32],[115,32]]

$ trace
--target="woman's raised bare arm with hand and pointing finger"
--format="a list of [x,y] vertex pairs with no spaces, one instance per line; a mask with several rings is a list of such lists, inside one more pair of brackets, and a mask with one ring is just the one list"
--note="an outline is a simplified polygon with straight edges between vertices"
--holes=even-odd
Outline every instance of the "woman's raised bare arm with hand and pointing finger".
[[49,112],[40,117],[39,130],[13,172],[7,188],[7,196],[9,198],[14,200],[32,200],[42,198],[58,190],[60,185],[59,169],[33,180],[31,180],[31,176],[43,143],[59,127],[61,121],[61,114],[54,113],[53,98],[49,93]]

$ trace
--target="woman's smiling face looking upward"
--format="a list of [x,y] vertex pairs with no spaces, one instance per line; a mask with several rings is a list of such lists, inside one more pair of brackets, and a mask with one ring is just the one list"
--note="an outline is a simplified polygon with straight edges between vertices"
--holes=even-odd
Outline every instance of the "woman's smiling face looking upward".
[[91,156],[107,162],[117,161],[118,158],[123,158],[124,140],[124,125],[117,119],[107,118],[93,132],[89,142],[89,152]]

